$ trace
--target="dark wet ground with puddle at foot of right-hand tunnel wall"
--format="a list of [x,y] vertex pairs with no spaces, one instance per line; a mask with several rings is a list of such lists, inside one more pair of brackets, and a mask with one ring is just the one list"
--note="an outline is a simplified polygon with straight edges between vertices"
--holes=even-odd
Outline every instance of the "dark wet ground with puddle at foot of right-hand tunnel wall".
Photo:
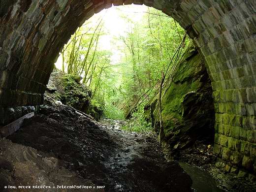
[[[212,191],[217,192],[220,189],[225,192],[256,192],[255,178],[238,177],[237,174],[217,168],[215,161],[213,161],[212,150],[211,143],[196,141],[192,148],[176,154],[175,160],[182,162],[180,163],[181,166],[193,180],[192,188],[196,185],[198,187],[197,192],[209,191],[205,190],[205,186],[212,186]],[[169,158],[167,157],[167,159]],[[194,177],[197,179],[194,180]],[[209,183],[209,181],[211,182]]]

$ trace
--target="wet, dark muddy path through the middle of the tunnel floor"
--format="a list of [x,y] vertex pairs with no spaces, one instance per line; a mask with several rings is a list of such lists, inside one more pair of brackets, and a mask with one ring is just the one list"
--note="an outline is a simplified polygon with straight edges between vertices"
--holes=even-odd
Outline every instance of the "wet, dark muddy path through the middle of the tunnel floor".
[[[117,121],[116,121],[117,122]],[[177,161],[167,162],[158,142],[142,134],[102,126],[117,148],[105,162],[120,192],[189,192],[192,181]],[[114,190],[114,189],[112,189]]]

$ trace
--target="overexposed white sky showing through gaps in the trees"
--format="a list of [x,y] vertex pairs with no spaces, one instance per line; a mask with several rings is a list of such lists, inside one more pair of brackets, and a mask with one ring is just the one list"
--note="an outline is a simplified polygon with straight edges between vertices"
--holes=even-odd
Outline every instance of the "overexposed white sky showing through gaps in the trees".
[[[100,11],[88,20],[88,22],[96,23],[99,17],[104,16],[103,22],[107,34],[101,36],[98,47],[102,50],[110,50],[113,53],[111,57],[112,64],[118,63],[122,55],[118,51],[118,45],[111,43],[111,41],[115,37],[125,35],[132,27],[132,23],[125,20],[122,15],[128,16],[131,21],[138,22],[142,19],[145,11],[147,11],[147,6],[145,5],[112,6]],[[62,57],[58,58],[55,65],[57,68],[62,68]]]

